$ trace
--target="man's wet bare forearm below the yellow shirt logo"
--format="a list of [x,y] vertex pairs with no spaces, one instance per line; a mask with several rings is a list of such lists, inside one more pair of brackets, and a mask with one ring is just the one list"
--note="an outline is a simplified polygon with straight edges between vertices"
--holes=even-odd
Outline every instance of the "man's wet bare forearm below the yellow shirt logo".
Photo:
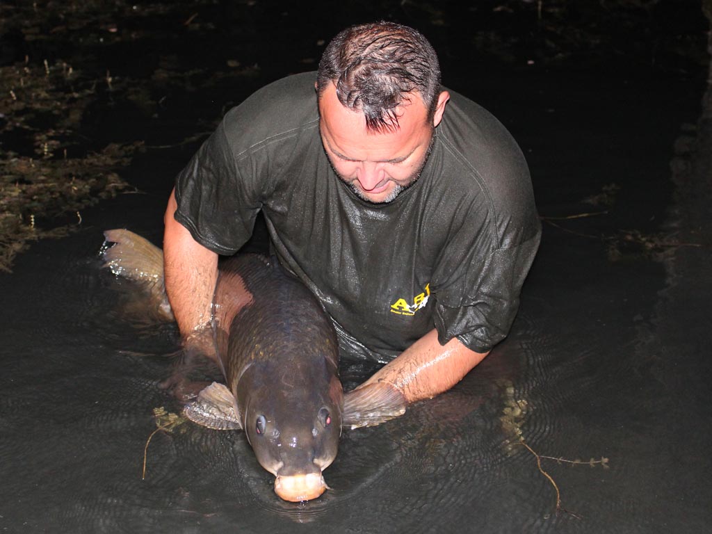
[[409,403],[430,399],[460,382],[488,353],[470,350],[456,338],[440,345],[433,329],[363,385],[387,382]]

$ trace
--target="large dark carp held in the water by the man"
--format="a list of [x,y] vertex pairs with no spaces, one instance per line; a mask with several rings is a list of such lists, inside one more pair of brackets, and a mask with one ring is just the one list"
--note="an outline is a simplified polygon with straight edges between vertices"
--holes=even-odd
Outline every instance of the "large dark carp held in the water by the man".
[[[140,281],[167,318],[162,251],[127,230],[109,230],[105,267]],[[225,384],[214,382],[184,407],[212,429],[244,429],[257,460],[276,476],[287,501],[307,501],[328,486],[322,471],[335,459],[342,426],[371,426],[405,412],[402,394],[370,384],[344,395],[337,339],[315,296],[257,254],[222,262],[211,335]]]

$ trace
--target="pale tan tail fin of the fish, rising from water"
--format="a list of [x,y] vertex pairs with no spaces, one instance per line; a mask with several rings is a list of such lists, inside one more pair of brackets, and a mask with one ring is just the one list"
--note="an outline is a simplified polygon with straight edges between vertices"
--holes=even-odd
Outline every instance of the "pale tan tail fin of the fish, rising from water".
[[117,276],[140,282],[150,293],[159,313],[173,320],[164,286],[163,251],[147,239],[124,229],[107,230],[104,237],[114,245],[103,252],[103,266]]

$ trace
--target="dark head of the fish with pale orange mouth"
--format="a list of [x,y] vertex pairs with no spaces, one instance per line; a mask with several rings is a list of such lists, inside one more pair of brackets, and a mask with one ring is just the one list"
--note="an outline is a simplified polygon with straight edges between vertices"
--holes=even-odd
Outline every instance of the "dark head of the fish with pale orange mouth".
[[[328,486],[322,471],[338,451],[343,394],[335,372],[273,369],[241,380],[243,428],[257,461],[286,501],[308,501]],[[268,377],[266,380],[265,377]],[[257,382],[261,382],[258,384]]]

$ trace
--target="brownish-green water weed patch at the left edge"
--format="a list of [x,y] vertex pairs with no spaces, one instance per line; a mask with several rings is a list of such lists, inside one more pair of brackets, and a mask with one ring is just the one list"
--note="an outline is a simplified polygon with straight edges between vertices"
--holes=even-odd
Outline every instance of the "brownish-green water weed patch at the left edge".
[[87,152],[78,140],[96,83],[63,62],[0,68],[0,271],[27,241],[66,234],[81,209],[127,187],[116,170],[135,145]]

